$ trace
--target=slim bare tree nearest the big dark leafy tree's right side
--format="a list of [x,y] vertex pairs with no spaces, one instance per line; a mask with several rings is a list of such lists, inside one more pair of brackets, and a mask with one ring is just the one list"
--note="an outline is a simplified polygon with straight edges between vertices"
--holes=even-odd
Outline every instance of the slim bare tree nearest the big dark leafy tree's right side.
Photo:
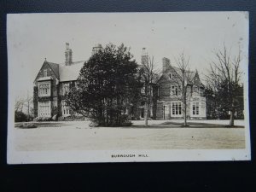
[[143,61],[141,67],[141,76],[144,89],[144,119],[145,126],[148,126],[148,111],[153,106],[153,89],[156,79],[159,77],[159,71],[155,68],[154,56],[148,57],[147,61]]

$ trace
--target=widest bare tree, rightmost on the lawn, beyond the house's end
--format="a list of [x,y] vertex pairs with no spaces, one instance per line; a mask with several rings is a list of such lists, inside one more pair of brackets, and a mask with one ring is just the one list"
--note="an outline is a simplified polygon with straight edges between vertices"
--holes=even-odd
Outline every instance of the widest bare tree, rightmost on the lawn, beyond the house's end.
[[216,61],[210,64],[210,74],[207,76],[207,86],[214,90],[218,96],[219,107],[227,108],[230,113],[230,126],[234,126],[234,113],[236,113],[237,90],[240,85],[241,50],[231,56],[226,46],[214,52]]

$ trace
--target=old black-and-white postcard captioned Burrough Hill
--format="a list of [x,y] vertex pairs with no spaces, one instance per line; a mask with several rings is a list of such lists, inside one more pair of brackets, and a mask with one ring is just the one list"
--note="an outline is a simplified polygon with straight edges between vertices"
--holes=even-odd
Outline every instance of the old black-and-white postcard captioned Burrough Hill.
[[248,12],[9,14],[9,164],[250,160]]

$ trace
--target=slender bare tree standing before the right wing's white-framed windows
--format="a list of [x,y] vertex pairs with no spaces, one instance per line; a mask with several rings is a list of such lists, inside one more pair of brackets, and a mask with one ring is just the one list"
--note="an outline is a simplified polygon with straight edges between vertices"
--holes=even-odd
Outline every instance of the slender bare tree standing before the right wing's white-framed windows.
[[184,116],[183,125],[188,126],[187,112],[190,98],[189,95],[191,95],[189,88],[192,89],[194,73],[190,71],[189,57],[185,56],[184,52],[178,55],[177,58],[175,58],[175,63],[177,65],[177,68],[175,70],[176,73],[173,74],[172,78],[172,83],[174,85],[174,90],[171,90],[172,96],[183,103],[183,106],[181,107]]

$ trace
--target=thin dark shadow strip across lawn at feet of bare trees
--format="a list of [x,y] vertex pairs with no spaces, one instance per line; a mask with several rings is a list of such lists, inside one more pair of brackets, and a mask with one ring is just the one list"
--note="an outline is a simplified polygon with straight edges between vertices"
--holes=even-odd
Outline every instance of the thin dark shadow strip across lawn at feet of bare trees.
[[207,123],[197,123],[197,122],[189,122],[189,126],[183,126],[183,122],[172,122],[167,121],[161,124],[152,124],[152,125],[131,125],[130,127],[122,127],[122,128],[244,128],[244,126],[241,125],[235,125],[230,127],[229,125],[220,125],[220,124],[207,124]]

